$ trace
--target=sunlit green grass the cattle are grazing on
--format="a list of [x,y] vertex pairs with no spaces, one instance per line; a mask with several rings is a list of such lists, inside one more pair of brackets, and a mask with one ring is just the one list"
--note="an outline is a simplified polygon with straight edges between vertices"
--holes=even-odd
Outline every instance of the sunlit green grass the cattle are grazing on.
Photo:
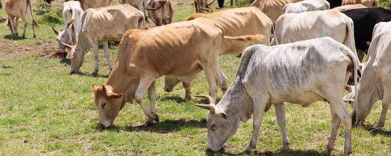
[[[217,5],[217,4],[214,4]],[[226,1],[229,5],[229,1]],[[216,7],[216,6],[214,6]],[[214,9],[216,10],[216,9]],[[175,6],[174,20],[194,13],[194,6]],[[5,17],[4,9],[0,16]],[[0,25],[0,155],[241,155],[253,131],[252,120],[241,123],[224,150],[207,149],[207,111],[193,106],[201,99],[184,99],[180,85],[172,93],[163,91],[163,78],[157,79],[157,108],[160,122],[143,127],[145,116],[137,103],[127,103],[115,120],[116,126],[101,131],[93,104],[91,83],[106,81],[108,64],[100,53],[101,77],[90,77],[93,56],[86,56],[81,74],[69,75],[69,65],[60,59],[41,55],[56,48],[52,23],[41,16],[37,39],[27,28],[27,39],[12,38],[8,27]],[[20,24],[21,26],[22,24]],[[55,24],[60,28],[60,24]],[[19,28],[22,30],[22,27]],[[20,33],[21,34],[21,33]],[[118,47],[110,47],[112,61]],[[102,50],[101,50],[102,51]],[[232,82],[239,64],[237,56],[220,57],[220,66]],[[204,74],[192,84],[195,94],[207,94]],[[222,97],[219,91],[218,97]],[[147,99],[147,98],[145,98]],[[149,102],[147,100],[147,102]],[[347,104],[348,105],[348,104]],[[286,104],[287,131],[291,151],[282,152],[281,132],[272,108],[265,113],[254,155],[313,156],[322,154],[331,129],[329,104],[316,102],[307,108]],[[391,156],[391,122],[387,117],[383,131],[370,132],[380,116],[378,101],[366,126],[353,129],[353,156]],[[340,126],[335,154],[343,154],[344,132]]]

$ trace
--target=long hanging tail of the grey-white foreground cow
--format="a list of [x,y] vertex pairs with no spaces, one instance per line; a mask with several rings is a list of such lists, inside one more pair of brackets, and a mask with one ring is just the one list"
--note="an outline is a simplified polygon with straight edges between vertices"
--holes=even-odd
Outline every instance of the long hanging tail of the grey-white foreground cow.
[[345,55],[348,55],[348,57],[350,57],[350,59],[352,60],[353,62],[353,79],[354,79],[354,107],[353,107],[353,114],[352,114],[352,125],[355,126],[356,125],[356,112],[357,112],[357,98],[358,98],[358,83],[357,83],[357,78],[358,78],[358,64],[360,62],[357,61],[357,59],[353,59],[354,57],[356,57],[352,51],[350,50],[347,50]]

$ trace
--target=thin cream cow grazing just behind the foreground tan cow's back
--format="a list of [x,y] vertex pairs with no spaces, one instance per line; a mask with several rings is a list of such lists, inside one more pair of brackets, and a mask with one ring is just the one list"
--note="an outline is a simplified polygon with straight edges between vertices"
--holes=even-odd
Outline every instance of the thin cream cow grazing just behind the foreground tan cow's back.
[[[121,24],[118,24],[121,23]],[[129,4],[112,5],[97,9],[87,9],[82,17],[81,33],[79,41],[75,45],[62,43],[70,49],[67,59],[71,60],[70,73],[77,73],[84,62],[84,56],[90,47],[94,50],[95,70],[92,75],[97,75],[98,45],[103,44],[105,58],[112,65],[109,56],[108,39],[121,39],[128,29],[145,29],[144,13]]]

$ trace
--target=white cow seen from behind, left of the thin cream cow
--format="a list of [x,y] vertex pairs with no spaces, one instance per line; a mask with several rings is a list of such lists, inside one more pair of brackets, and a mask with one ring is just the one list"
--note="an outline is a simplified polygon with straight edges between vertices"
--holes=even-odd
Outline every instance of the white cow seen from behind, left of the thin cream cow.
[[69,0],[64,2],[64,31],[68,33],[69,43],[71,45],[78,41],[80,28],[82,26],[82,15],[83,9],[79,1]]

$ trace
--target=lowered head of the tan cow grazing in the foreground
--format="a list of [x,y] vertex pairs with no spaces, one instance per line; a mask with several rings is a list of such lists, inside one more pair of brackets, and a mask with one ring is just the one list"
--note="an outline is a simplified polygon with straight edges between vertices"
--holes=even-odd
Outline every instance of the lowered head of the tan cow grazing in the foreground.
[[98,108],[99,128],[109,128],[114,124],[114,119],[122,108],[124,97],[122,94],[116,94],[111,86],[94,88],[94,104]]

